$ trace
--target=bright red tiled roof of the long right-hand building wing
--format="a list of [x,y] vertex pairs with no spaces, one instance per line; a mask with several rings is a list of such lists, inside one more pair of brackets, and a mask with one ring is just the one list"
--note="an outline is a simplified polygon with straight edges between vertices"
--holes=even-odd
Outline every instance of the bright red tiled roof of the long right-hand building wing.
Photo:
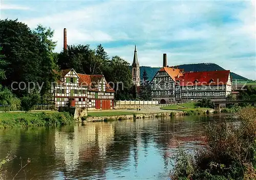
[[[183,77],[177,78],[180,80],[181,86],[189,85],[221,85],[227,84],[229,71],[206,71],[206,72],[191,72],[185,73]],[[211,80],[214,80],[211,82]],[[195,81],[198,82],[195,82]]]

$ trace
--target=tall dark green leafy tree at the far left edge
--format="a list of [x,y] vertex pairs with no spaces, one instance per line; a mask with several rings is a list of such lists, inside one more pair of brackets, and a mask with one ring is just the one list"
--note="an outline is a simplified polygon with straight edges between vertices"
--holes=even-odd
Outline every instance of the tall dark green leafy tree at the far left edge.
[[[41,30],[41,29],[38,29]],[[4,86],[11,86],[12,82],[34,82],[42,84],[47,91],[46,85],[53,78],[52,60],[49,54],[52,46],[47,40],[51,35],[49,32],[38,31],[33,33],[30,28],[15,20],[0,20],[0,46],[3,48],[6,79],[3,80]],[[47,45],[48,44],[48,45]],[[23,84],[24,85],[24,84]],[[22,89],[24,86],[20,86]],[[22,90],[16,84],[13,91],[18,97],[27,93],[27,89]]]

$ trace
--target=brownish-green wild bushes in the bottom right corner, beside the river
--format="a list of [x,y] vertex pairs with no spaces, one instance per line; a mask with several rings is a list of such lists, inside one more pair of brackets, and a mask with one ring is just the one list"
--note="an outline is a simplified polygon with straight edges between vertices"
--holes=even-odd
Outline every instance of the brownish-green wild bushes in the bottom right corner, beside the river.
[[238,123],[206,127],[208,145],[191,155],[178,148],[172,160],[172,179],[256,179],[256,108],[245,107]]

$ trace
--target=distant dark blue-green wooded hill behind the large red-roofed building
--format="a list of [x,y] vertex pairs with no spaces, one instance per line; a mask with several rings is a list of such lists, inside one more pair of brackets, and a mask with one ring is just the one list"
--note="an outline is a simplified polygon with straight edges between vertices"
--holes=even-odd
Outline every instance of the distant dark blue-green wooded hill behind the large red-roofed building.
[[[178,68],[180,69],[184,69],[185,72],[201,72],[201,71],[221,71],[221,70],[225,70],[223,69],[221,66],[219,66],[218,64],[215,63],[199,63],[199,64],[182,64],[182,65],[177,65]],[[132,69],[132,66],[130,66],[130,68]],[[160,70],[160,68],[152,68],[150,66],[140,66],[140,75],[142,78],[142,73],[143,71],[146,70],[147,75],[148,75],[148,79],[152,80],[153,77],[155,76],[155,74]],[[239,79],[239,80],[248,80],[247,78],[240,76],[236,73],[230,73],[232,76],[232,79]]]

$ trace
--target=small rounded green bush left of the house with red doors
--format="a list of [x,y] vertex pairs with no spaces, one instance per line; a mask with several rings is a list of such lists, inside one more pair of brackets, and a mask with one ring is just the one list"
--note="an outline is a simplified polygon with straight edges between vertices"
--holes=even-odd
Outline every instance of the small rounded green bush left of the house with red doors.
[[37,104],[40,101],[40,95],[39,93],[37,93],[36,91],[31,92],[27,95],[25,95],[22,98],[22,108],[25,110],[25,112],[27,113],[29,110],[32,109],[32,107]]

